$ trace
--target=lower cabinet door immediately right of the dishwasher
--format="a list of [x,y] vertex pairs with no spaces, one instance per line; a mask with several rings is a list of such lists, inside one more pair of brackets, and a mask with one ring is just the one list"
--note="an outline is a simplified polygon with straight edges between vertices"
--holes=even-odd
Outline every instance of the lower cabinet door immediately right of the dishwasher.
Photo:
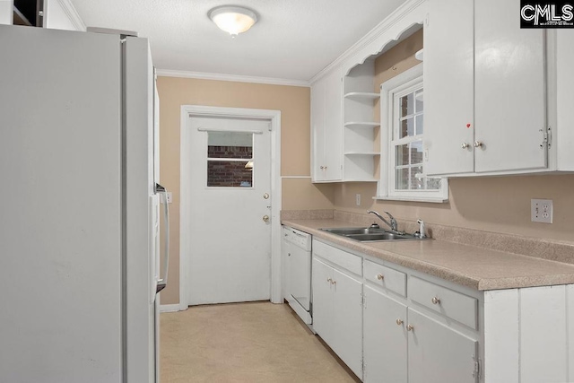
[[333,268],[313,258],[313,329],[327,344],[332,344]]

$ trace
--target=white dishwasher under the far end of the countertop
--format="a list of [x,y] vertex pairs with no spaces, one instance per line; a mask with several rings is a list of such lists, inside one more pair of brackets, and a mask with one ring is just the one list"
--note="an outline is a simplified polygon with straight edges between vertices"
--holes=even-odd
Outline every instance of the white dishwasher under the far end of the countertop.
[[313,237],[303,231],[283,228],[287,283],[285,298],[289,306],[310,327],[313,323],[311,302],[311,243]]

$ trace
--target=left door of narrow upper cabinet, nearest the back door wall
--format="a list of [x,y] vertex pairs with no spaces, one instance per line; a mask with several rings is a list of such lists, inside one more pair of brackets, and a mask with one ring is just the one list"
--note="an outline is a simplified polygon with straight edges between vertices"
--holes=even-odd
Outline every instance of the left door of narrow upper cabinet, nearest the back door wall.
[[325,84],[323,78],[311,87],[311,178],[325,178]]

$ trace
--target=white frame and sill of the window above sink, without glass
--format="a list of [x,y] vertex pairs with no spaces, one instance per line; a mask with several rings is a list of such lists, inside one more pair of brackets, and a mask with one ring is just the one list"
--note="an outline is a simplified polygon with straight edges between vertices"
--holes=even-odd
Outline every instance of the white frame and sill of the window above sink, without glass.
[[[424,92],[422,63],[413,66],[402,74],[398,74],[380,85],[380,179],[378,181],[377,196],[375,199],[434,203],[448,202],[448,178],[441,178],[441,187],[437,190],[396,189],[395,170],[397,146],[393,141],[393,135],[398,128],[394,121],[394,116],[396,116],[399,110],[399,105],[396,100],[399,100],[400,96],[409,94],[419,88],[422,88]],[[424,109],[422,116],[424,118]],[[423,147],[422,170],[424,174],[424,162],[426,161],[424,130],[422,135],[413,135],[395,141],[406,144],[407,142],[420,141],[421,139]]]

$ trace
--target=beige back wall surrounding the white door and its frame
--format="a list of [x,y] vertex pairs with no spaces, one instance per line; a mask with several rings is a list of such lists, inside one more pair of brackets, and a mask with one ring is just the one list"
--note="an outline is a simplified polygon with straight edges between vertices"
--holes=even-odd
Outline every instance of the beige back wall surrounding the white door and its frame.
[[[179,133],[182,105],[281,110],[282,176],[309,177],[310,90],[306,87],[159,77],[161,184],[173,192],[170,205],[170,283],[162,304],[179,301]],[[329,187],[310,178],[285,178],[283,208],[332,208]]]

